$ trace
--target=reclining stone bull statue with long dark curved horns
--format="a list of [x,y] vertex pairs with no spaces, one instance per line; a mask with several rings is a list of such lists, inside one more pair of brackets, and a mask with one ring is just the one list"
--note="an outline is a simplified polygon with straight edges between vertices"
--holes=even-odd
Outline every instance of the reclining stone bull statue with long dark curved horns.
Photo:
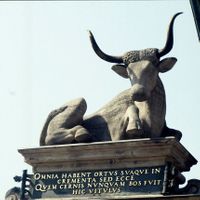
[[131,88],[89,116],[84,116],[87,109],[84,98],[52,111],[43,127],[40,145],[165,136],[180,140],[182,134],[166,126],[165,91],[159,78],[159,73],[169,71],[177,61],[174,57],[160,59],[173,47],[173,24],[179,14],[170,21],[163,49],[148,48],[111,56],[99,48],[89,31],[95,53],[105,61],[117,63],[112,69],[123,78],[129,78]]

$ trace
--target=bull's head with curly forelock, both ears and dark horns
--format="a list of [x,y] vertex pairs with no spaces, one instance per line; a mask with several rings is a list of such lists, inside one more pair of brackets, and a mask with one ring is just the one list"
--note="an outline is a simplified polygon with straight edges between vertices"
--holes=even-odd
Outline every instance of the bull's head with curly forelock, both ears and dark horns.
[[133,100],[145,101],[151,95],[158,80],[159,72],[170,70],[177,59],[174,57],[160,58],[169,53],[173,47],[173,24],[177,13],[170,21],[167,41],[163,49],[148,48],[140,51],[129,51],[123,56],[111,56],[104,53],[97,45],[93,34],[89,31],[90,41],[96,54],[105,61],[118,63],[112,69],[124,78],[129,78],[132,84]]

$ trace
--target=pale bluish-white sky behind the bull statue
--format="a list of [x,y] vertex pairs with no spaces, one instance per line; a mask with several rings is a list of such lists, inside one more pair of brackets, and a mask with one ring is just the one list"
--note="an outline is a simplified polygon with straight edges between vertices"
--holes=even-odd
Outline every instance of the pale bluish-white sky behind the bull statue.
[[[82,96],[91,113],[130,87],[95,55],[87,30],[108,54],[162,48],[169,20],[180,11],[168,54],[178,62],[161,76],[166,120],[199,160],[200,44],[189,1],[0,2],[0,199],[18,186],[15,175],[31,173],[17,149],[39,146],[50,111]],[[199,164],[186,175],[200,179]]]

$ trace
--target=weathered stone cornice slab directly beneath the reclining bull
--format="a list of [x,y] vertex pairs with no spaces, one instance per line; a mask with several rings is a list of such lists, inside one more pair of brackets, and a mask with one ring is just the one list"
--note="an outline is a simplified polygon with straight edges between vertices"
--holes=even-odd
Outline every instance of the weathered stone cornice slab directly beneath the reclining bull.
[[113,169],[173,163],[189,171],[196,159],[174,137],[20,149],[34,171]]

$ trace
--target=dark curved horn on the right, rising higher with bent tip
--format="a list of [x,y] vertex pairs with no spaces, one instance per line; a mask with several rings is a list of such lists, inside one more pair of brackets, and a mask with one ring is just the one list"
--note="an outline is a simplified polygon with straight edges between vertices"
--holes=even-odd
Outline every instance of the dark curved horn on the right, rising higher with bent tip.
[[169,28],[168,28],[168,33],[167,33],[167,41],[165,44],[165,47],[163,49],[160,49],[158,51],[159,57],[166,55],[167,53],[169,53],[173,47],[173,43],[174,43],[174,36],[173,36],[173,25],[174,25],[174,20],[175,18],[182,14],[182,12],[176,13],[170,23],[169,23]]

